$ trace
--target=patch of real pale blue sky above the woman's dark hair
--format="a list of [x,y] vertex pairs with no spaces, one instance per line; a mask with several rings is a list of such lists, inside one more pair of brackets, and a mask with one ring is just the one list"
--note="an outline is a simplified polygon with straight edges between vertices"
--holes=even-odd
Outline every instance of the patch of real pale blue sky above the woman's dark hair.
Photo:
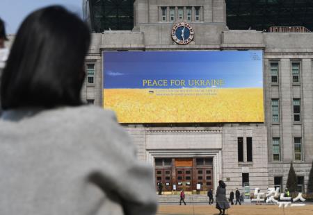
[[62,5],[82,17],[82,0],[0,0],[0,17],[8,34],[16,33],[24,18],[33,10],[50,5]]

